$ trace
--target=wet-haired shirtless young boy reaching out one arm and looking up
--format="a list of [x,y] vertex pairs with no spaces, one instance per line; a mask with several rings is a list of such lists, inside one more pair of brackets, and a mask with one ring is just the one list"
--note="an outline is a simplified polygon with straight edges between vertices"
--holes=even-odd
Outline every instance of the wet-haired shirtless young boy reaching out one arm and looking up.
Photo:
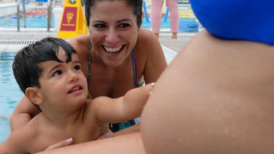
[[0,153],[35,153],[72,137],[73,144],[92,141],[109,123],[140,116],[154,84],[111,99],[87,100],[87,80],[78,55],[65,40],[45,38],[15,56],[13,72],[26,97],[42,112],[13,131]]

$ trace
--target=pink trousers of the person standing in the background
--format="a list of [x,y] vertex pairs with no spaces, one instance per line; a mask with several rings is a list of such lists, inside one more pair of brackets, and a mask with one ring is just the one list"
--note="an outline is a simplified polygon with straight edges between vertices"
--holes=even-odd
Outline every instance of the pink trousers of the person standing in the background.
[[[177,0],[166,0],[168,3],[168,9],[170,12],[170,25],[171,32],[177,33],[179,27],[179,10]],[[153,33],[160,33],[160,24],[162,17],[162,0],[152,0],[152,12],[151,12],[151,23]]]

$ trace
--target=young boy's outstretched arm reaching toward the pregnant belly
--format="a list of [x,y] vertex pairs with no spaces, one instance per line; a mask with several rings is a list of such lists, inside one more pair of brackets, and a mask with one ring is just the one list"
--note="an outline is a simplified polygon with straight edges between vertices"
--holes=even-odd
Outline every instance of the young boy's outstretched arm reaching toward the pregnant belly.
[[[93,103],[96,106],[96,116],[100,122],[120,123],[139,117],[147,102],[154,83],[128,91],[125,96],[111,99],[97,97]],[[94,106],[92,105],[92,106]]]

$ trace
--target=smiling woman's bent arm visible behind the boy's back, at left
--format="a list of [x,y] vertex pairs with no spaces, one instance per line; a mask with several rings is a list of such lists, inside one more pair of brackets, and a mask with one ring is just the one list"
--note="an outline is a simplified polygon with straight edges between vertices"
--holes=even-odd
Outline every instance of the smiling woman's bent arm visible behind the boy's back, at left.
[[34,116],[40,113],[38,110],[27,98],[24,96],[17,107],[12,113],[10,120],[11,131],[14,131],[17,128],[21,128],[27,122],[29,122]]

